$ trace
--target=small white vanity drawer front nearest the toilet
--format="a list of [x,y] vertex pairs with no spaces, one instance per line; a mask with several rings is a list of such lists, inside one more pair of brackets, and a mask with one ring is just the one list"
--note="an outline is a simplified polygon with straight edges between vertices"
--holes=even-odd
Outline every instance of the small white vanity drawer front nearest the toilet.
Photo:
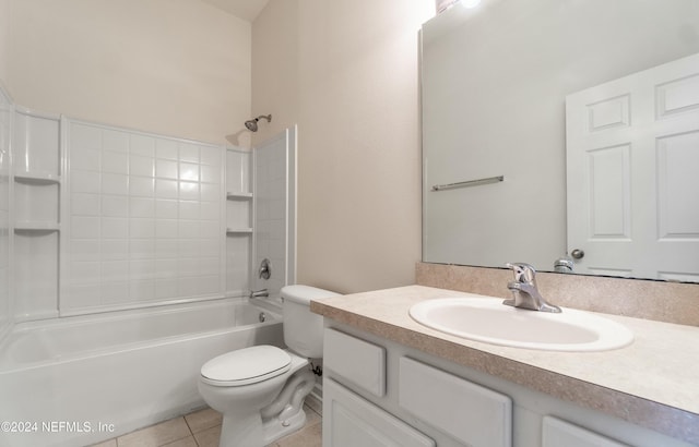
[[386,394],[386,349],[380,346],[328,328],[323,366],[375,396]]

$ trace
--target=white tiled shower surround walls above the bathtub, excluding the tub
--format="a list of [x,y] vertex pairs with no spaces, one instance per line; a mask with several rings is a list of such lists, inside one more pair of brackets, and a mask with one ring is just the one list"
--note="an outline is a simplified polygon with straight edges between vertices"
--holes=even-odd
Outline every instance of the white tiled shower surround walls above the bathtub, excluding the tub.
[[[5,99],[0,337],[16,322],[240,297],[254,286],[275,297],[294,280],[295,131],[260,148],[253,185],[249,152]],[[262,285],[250,283],[252,252],[273,259]]]

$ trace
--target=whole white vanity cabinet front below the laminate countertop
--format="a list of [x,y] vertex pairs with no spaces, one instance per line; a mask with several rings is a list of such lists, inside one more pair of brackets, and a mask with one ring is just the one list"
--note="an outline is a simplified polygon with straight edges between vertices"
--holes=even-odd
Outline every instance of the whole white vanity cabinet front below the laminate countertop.
[[350,325],[325,326],[324,447],[690,445]]

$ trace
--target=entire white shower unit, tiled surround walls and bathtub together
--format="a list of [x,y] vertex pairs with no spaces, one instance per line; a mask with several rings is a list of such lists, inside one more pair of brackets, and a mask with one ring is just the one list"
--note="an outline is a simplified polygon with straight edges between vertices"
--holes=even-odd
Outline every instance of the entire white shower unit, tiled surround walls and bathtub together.
[[[27,110],[1,89],[0,106],[3,420],[82,423],[106,399],[112,433],[59,430],[42,443],[112,437],[203,404],[192,388],[203,360],[282,342],[295,130],[245,152]],[[270,279],[256,275],[261,258]],[[270,299],[248,300],[253,288]],[[40,398],[21,397],[39,383]],[[133,389],[146,411],[127,398]]]

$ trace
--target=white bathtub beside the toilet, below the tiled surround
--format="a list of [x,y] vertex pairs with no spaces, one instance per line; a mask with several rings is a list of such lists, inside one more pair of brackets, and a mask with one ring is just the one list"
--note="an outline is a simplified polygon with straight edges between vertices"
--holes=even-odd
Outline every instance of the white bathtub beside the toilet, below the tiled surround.
[[279,310],[242,299],[16,325],[0,346],[0,446],[83,446],[204,404],[209,359],[283,346]]

